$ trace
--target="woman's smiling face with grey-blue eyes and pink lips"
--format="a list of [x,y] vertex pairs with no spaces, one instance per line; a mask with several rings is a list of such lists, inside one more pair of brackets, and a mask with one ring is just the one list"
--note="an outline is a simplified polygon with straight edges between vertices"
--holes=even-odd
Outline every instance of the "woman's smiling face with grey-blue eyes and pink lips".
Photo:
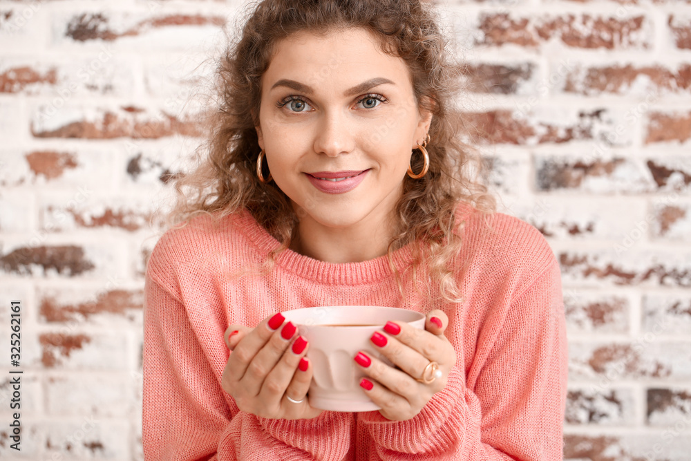
[[390,218],[431,120],[418,111],[404,60],[382,53],[366,30],[299,32],[278,43],[261,85],[259,145],[301,224]]

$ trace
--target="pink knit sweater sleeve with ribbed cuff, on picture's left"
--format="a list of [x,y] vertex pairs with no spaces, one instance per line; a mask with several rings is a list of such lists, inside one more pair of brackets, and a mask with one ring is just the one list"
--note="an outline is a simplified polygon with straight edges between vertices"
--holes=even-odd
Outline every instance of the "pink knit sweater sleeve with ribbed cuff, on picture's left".
[[[151,258],[158,258],[158,252]],[[313,420],[286,421],[238,411],[220,385],[219,373],[229,352],[220,359],[209,358],[208,347],[204,348],[209,339],[193,328],[177,283],[153,274],[170,274],[172,267],[160,267],[159,272],[151,270],[155,266],[151,261],[149,266],[144,288],[142,397],[146,461],[347,458],[354,426],[350,413],[324,412]]]

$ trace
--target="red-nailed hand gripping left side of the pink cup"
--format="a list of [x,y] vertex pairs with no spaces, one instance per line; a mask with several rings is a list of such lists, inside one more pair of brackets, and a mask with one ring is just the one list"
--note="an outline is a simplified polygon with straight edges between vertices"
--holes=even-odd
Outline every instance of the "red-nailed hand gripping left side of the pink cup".
[[322,410],[307,402],[312,381],[312,365],[305,358],[309,345],[284,321],[279,313],[253,329],[228,327],[223,338],[232,352],[221,385],[241,411],[284,420],[313,418]]

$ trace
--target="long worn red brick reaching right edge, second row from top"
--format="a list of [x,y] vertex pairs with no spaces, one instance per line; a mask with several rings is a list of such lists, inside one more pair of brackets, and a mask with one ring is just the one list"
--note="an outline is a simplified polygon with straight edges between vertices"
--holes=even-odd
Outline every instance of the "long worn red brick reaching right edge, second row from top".
[[685,93],[691,88],[691,66],[581,66],[568,75],[564,91],[583,95],[621,95],[632,93],[634,86],[636,91],[644,94],[661,90]]

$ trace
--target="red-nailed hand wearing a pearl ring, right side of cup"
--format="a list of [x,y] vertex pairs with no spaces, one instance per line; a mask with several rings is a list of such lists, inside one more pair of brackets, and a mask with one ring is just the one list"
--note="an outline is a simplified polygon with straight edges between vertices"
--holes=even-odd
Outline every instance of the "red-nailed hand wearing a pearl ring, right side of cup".
[[[388,322],[384,332],[375,332],[370,341],[398,368],[365,352],[355,357],[363,372],[372,378],[363,378],[360,386],[372,402],[381,406],[382,416],[388,420],[410,420],[446,386],[448,372],[456,363],[456,352],[444,337],[447,325],[446,314],[434,310],[427,314],[426,330],[404,322]],[[436,370],[432,362],[438,364]],[[428,384],[420,379],[427,379]]]

